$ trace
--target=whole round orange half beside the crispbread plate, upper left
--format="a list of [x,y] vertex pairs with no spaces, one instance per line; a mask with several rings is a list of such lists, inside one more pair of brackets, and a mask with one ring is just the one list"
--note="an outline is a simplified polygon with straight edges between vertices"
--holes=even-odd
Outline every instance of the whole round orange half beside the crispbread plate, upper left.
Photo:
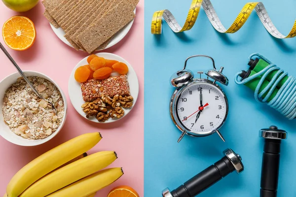
[[4,23],[2,36],[9,48],[24,51],[34,44],[36,29],[34,23],[29,18],[13,16]]

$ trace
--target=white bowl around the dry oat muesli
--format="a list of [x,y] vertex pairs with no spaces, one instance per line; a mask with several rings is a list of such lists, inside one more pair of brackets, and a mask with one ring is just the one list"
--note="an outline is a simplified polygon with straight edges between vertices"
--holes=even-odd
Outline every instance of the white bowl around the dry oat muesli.
[[16,82],[16,79],[21,77],[21,75],[16,72],[13,73],[7,77],[5,77],[2,81],[0,81],[0,110],[1,110],[1,114],[0,114],[0,135],[6,139],[7,141],[20,145],[20,146],[37,146],[39,144],[43,144],[47,141],[49,141],[50,139],[52,139],[54,136],[56,136],[62,129],[62,127],[65,124],[66,121],[66,116],[67,116],[67,100],[66,100],[66,96],[63,93],[62,89],[48,76],[40,73],[40,72],[36,72],[36,71],[24,71],[25,75],[27,77],[29,76],[37,76],[37,77],[42,77],[44,79],[47,79],[48,81],[50,81],[51,83],[53,83],[58,90],[60,91],[62,98],[63,98],[63,102],[64,102],[64,107],[65,107],[65,115],[62,119],[62,123],[61,125],[58,127],[58,129],[56,131],[54,131],[51,135],[49,135],[48,137],[45,137],[43,139],[37,139],[37,140],[29,140],[29,139],[25,139],[24,137],[15,134],[14,132],[12,132],[9,127],[4,123],[3,121],[3,114],[2,114],[2,106],[3,106],[3,97],[4,94],[6,92],[6,90],[8,89],[8,87]]

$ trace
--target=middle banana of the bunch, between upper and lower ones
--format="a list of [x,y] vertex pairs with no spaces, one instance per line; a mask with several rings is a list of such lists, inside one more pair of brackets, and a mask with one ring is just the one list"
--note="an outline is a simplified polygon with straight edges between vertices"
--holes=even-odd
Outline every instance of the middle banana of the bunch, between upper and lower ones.
[[107,167],[116,159],[117,156],[114,151],[103,151],[89,155],[45,175],[19,197],[45,197]]

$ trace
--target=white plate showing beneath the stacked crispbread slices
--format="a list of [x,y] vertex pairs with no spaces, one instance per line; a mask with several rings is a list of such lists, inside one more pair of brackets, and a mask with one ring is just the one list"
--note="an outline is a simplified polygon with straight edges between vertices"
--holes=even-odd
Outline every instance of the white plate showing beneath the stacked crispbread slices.
[[[134,13],[136,14],[136,8],[134,10]],[[119,30],[119,32],[117,32],[114,37],[111,39],[111,41],[109,42],[109,44],[107,45],[107,47],[105,49],[110,48],[111,46],[117,44],[120,40],[122,40],[124,38],[124,36],[129,32],[129,30],[132,28],[132,25],[134,23],[134,20],[132,20],[131,22],[129,22],[126,26],[124,26],[121,30]],[[49,23],[50,24],[50,23]],[[58,29],[56,29],[55,27],[53,27],[53,25],[51,25],[51,28],[53,30],[53,32],[64,42],[66,43],[68,46],[72,46],[72,44],[64,37],[65,32],[64,30],[60,27]],[[74,47],[73,47],[74,48]],[[97,48],[96,51],[101,51],[104,49],[100,49]]]

